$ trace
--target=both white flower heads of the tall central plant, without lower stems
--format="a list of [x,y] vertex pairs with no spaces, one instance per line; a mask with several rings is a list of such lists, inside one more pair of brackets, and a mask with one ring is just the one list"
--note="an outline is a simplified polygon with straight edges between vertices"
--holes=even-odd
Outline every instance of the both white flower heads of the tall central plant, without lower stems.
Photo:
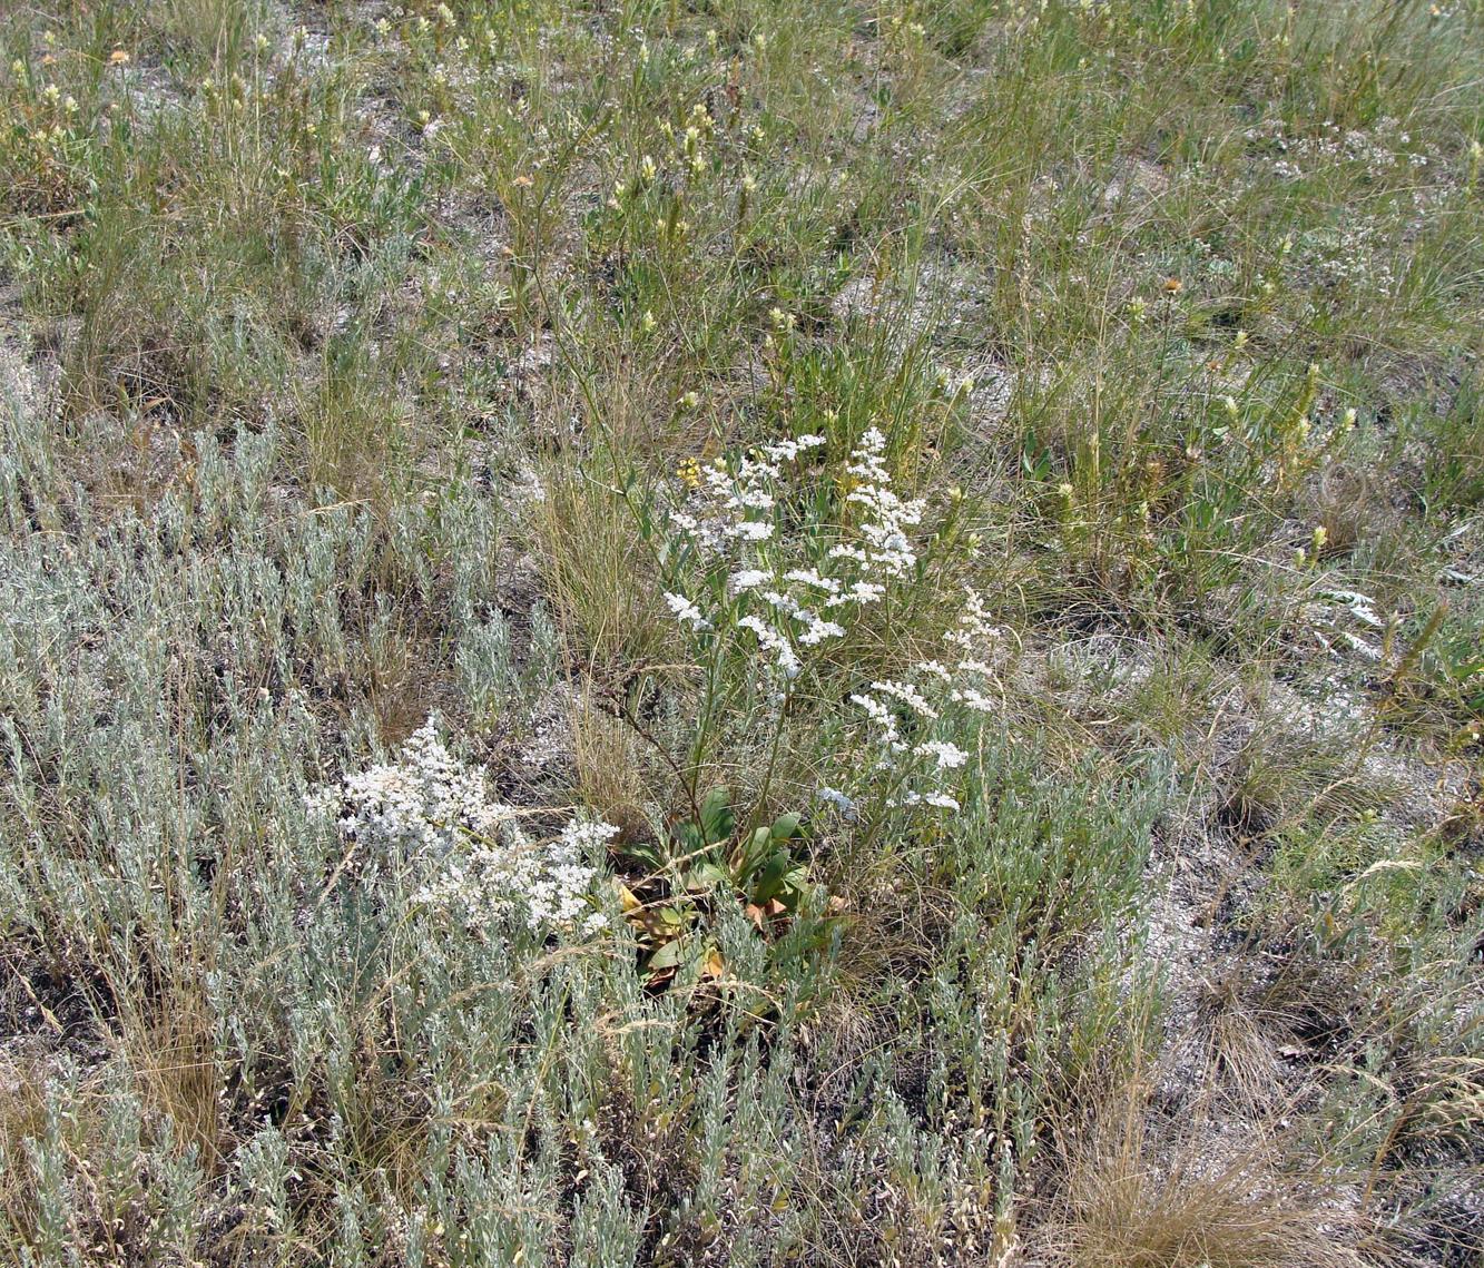
[[[689,567],[675,570],[678,585],[665,595],[675,619],[702,650],[715,650],[718,638],[741,640],[779,701],[815,649],[846,640],[852,619],[908,586],[919,570],[911,530],[926,503],[892,488],[881,432],[870,429],[843,471],[809,472],[806,456],[824,444],[806,435],[736,465],[718,459],[693,469],[695,491],[668,517],[674,537],[693,548],[681,554]],[[844,490],[841,499],[818,496],[825,478]],[[833,508],[822,518],[803,511],[821,505]],[[844,728],[853,742],[837,754],[850,772],[849,791],[824,785],[821,800],[847,820],[858,817],[861,797],[876,809],[957,809],[948,785],[968,754],[947,738],[947,714],[991,710],[991,667],[982,656],[996,633],[979,595],[968,591],[944,635],[947,664],[922,661],[901,679],[849,693],[856,713]],[[841,656],[849,652],[834,653],[837,662]]]

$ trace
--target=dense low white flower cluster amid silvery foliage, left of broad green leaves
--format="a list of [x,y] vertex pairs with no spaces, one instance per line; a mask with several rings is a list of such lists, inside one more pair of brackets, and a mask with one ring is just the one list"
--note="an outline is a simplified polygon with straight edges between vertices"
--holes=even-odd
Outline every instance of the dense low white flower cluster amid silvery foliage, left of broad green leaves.
[[592,932],[604,924],[591,901],[598,869],[585,860],[617,829],[571,820],[555,840],[530,840],[518,812],[490,800],[484,774],[448,751],[436,719],[396,762],[346,775],[306,805],[337,815],[358,845],[405,860],[421,879],[414,900],[470,927],[516,921],[534,932]]

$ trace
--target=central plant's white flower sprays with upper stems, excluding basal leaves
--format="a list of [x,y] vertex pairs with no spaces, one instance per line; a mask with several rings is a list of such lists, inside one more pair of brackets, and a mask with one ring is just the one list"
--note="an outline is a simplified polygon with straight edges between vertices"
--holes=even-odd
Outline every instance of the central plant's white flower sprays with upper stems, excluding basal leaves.
[[[810,707],[824,705],[830,756],[821,765],[838,771],[815,793],[846,821],[864,809],[873,821],[898,808],[957,809],[950,785],[968,754],[954,738],[993,708],[994,668],[984,658],[999,631],[982,598],[965,591],[942,635],[945,659],[870,673],[879,638],[867,635],[932,589],[917,540],[928,503],[895,491],[876,428],[843,463],[827,454],[825,437],[803,435],[735,462],[692,465],[686,494],[644,520],[657,539],[665,600],[703,677],[686,790],[696,820],[712,739],[726,716],[757,716],[760,696],[772,736],[755,803],[769,803],[784,731],[806,689]],[[743,837],[757,827],[749,823]]]

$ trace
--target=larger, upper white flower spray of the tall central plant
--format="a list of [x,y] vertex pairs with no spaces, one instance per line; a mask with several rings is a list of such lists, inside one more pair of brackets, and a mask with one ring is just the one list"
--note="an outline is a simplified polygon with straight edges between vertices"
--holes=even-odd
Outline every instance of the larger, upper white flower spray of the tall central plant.
[[847,523],[819,535],[789,533],[787,491],[800,457],[825,444],[806,435],[764,445],[736,468],[717,460],[696,475],[687,508],[671,512],[669,524],[692,539],[702,558],[721,557],[727,619],[708,616],[695,598],[666,592],[665,601],[681,624],[697,631],[730,624],[749,631],[772,673],[789,682],[801,668],[800,647],[843,638],[850,607],[876,603],[886,582],[905,576],[917,563],[908,529],[922,523],[922,500],[902,500],[886,469],[886,437],[871,428],[846,465],[846,503],[856,512]]

